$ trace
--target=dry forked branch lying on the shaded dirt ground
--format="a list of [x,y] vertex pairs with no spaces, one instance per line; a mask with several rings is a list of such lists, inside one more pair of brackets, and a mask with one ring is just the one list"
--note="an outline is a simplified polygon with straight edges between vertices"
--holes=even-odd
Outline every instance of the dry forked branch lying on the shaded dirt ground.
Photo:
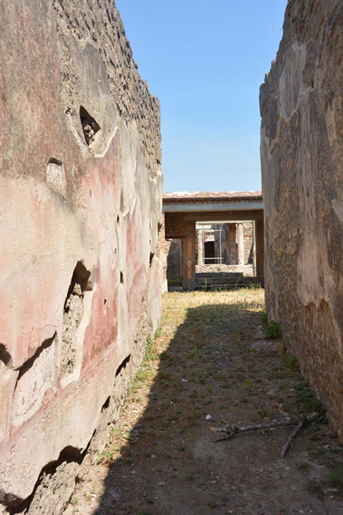
[[261,429],[270,429],[272,427],[282,427],[285,425],[296,425],[294,430],[292,431],[290,437],[288,438],[286,444],[282,448],[281,457],[284,458],[288,449],[290,449],[291,444],[298,434],[298,432],[301,430],[301,428],[309,424],[310,422],[313,422],[317,418],[316,413],[311,413],[311,415],[308,415],[306,417],[303,417],[302,420],[279,420],[276,422],[265,422],[262,424],[251,424],[251,425],[232,425],[225,423],[225,427],[210,427],[211,431],[214,431],[214,433],[226,433],[225,436],[222,436],[221,438],[218,438],[218,440],[215,440],[215,442],[223,442],[224,440],[230,440],[234,435],[237,435],[239,433],[246,433],[247,431],[259,431]]

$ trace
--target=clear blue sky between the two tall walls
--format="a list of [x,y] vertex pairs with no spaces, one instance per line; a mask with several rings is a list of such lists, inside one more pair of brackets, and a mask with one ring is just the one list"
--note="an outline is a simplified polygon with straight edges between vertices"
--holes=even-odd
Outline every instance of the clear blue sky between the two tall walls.
[[160,100],[165,191],[260,190],[259,87],[286,0],[116,5],[139,73]]

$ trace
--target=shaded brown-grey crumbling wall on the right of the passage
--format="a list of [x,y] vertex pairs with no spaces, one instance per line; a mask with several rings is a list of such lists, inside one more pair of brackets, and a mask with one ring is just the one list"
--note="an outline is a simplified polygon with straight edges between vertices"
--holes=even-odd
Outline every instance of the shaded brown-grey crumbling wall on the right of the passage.
[[260,91],[266,308],[343,438],[343,3],[290,0]]

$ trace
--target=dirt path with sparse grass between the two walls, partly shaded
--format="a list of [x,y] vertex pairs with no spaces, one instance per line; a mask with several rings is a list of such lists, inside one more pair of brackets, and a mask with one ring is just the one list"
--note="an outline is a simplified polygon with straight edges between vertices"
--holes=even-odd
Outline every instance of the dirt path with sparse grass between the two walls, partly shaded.
[[[173,293],[99,465],[67,515],[343,514],[343,448],[325,417],[215,443],[211,426],[322,407],[281,342],[265,340],[263,290]],[[211,420],[206,416],[211,415]]]

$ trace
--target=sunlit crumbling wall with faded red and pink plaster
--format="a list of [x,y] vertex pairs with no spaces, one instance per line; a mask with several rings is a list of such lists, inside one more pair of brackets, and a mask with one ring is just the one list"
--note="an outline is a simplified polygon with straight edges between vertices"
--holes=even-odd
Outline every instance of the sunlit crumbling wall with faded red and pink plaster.
[[159,103],[113,0],[0,10],[0,512],[58,515],[159,323]]

